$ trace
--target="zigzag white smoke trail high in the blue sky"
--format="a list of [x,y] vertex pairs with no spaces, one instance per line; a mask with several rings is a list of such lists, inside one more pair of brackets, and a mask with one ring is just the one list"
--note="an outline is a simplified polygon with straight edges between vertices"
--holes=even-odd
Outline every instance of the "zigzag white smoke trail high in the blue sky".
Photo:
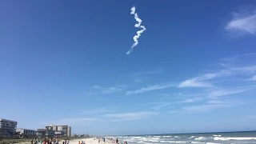
[[130,47],[130,50],[126,53],[126,54],[130,54],[133,50],[134,50],[134,47],[138,45],[138,38],[141,36],[141,34],[143,33],[143,31],[146,30],[146,27],[145,26],[141,26],[142,24],[142,20],[140,18],[138,18],[138,14],[135,13],[135,6],[133,6],[131,9],[130,9],[130,14],[134,14],[134,18],[135,20],[138,22],[136,23],[134,26],[135,27],[138,27],[138,28],[142,28],[142,30],[138,30],[137,31],[137,35],[134,35],[134,44],[133,46]]

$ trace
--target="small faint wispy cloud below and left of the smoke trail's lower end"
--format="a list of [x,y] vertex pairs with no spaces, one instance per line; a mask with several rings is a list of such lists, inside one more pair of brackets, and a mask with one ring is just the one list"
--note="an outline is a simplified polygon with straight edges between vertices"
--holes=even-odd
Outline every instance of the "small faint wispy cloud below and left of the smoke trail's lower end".
[[[93,86],[94,90],[99,90],[98,94],[110,94],[118,91],[126,90],[127,86],[110,86],[110,87],[102,87],[102,86]],[[94,94],[97,94],[94,92]]]

